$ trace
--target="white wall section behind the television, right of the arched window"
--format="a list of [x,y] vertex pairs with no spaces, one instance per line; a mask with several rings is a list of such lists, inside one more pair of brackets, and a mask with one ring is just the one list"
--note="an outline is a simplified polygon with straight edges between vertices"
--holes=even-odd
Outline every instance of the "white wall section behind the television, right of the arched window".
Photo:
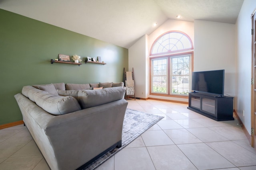
[[194,71],[224,69],[224,93],[236,97],[235,25],[202,20],[194,25]]

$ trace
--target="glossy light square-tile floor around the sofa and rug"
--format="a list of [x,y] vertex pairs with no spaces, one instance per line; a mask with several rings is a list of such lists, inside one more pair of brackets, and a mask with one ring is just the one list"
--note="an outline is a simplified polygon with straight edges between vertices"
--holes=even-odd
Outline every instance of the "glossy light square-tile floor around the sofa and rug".
[[[256,152],[238,121],[214,121],[185,104],[128,100],[164,116],[96,170],[256,170]],[[23,125],[0,130],[0,170],[49,170]]]

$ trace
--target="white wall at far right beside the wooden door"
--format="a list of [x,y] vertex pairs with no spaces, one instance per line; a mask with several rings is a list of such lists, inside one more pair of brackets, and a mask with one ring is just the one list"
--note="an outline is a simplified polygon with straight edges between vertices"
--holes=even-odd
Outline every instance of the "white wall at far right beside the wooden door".
[[[244,0],[236,20],[237,106],[236,112],[250,134],[251,129],[251,18],[255,0]],[[244,110],[244,116],[243,116]]]

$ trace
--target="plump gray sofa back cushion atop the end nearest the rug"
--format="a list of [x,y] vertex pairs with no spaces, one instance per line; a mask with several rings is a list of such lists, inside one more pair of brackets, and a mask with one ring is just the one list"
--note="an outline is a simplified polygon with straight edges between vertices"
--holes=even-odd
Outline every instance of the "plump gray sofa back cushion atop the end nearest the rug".
[[78,102],[82,109],[94,107],[124,98],[125,90],[122,87],[112,87],[98,90],[78,91]]

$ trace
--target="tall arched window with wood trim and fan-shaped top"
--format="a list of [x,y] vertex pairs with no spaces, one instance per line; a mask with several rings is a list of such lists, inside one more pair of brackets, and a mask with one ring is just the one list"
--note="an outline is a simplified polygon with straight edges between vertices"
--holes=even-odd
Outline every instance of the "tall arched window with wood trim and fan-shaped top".
[[192,49],[190,37],[181,31],[168,31],[154,41],[150,50],[150,94],[188,95]]

